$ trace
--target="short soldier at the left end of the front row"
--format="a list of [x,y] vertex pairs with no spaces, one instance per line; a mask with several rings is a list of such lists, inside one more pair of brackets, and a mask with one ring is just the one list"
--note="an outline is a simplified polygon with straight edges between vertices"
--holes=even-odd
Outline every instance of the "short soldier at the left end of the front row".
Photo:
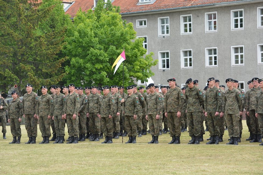
[[[17,92],[11,92],[13,100],[8,107],[8,122],[10,123],[11,133],[13,135],[13,141],[10,143],[20,143],[21,139],[21,116],[22,116],[22,101],[17,98]],[[16,139],[17,137],[17,139]]]

